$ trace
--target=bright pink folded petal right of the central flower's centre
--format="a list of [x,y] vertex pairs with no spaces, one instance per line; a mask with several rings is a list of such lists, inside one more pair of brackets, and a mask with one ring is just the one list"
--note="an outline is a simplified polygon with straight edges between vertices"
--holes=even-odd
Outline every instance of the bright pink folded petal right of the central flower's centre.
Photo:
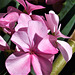
[[48,54],[56,54],[58,50],[50,43],[49,36],[45,37],[38,45],[38,49],[41,52]]

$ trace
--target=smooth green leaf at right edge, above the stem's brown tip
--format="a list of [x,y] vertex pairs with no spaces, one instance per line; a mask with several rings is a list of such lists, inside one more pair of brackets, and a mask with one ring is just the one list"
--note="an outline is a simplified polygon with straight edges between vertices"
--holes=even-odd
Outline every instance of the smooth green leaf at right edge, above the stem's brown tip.
[[75,23],[75,15],[71,18],[71,20],[67,23],[64,29],[61,31],[64,35],[68,35],[72,27]]

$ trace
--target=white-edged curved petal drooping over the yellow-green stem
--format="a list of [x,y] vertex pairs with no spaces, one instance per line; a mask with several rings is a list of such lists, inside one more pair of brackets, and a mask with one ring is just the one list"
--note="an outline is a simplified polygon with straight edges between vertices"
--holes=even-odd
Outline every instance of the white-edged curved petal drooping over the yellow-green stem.
[[58,48],[60,49],[60,52],[62,53],[64,59],[66,60],[66,62],[68,62],[72,57],[71,46],[65,41],[57,40],[57,43],[58,43]]

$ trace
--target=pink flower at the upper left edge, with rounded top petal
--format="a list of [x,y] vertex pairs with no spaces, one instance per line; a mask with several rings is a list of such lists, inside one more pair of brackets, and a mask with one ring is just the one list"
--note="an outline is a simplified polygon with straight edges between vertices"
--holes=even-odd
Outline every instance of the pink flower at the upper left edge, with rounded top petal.
[[2,27],[6,33],[12,34],[14,32],[14,26],[18,18],[19,18],[19,14],[17,12],[4,14],[0,18],[0,27]]

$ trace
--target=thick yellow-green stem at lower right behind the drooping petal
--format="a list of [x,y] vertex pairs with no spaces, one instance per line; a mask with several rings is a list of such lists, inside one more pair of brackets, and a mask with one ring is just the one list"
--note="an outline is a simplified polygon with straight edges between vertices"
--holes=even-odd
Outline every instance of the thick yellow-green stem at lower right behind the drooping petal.
[[[75,52],[75,41],[69,40],[68,43],[72,47],[72,50],[74,53]],[[62,71],[62,69],[65,67],[66,64],[67,64],[66,61],[64,60],[62,54],[60,53],[53,63],[53,69],[50,75],[58,75]]]

